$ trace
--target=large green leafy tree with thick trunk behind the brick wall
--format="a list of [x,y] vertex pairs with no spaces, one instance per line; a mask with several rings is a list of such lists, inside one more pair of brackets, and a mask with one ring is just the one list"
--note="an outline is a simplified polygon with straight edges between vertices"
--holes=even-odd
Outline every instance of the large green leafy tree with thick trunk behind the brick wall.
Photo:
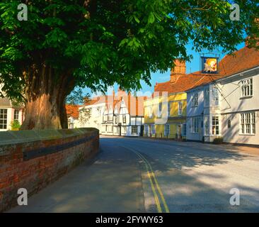
[[[139,89],[151,72],[196,50],[235,50],[258,36],[258,0],[236,0],[231,21],[223,0],[1,0],[0,82],[25,101],[23,129],[67,128],[66,96],[74,87]],[[18,4],[28,21],[18,21]],[[232,10],[233,11],[233,10]]]

